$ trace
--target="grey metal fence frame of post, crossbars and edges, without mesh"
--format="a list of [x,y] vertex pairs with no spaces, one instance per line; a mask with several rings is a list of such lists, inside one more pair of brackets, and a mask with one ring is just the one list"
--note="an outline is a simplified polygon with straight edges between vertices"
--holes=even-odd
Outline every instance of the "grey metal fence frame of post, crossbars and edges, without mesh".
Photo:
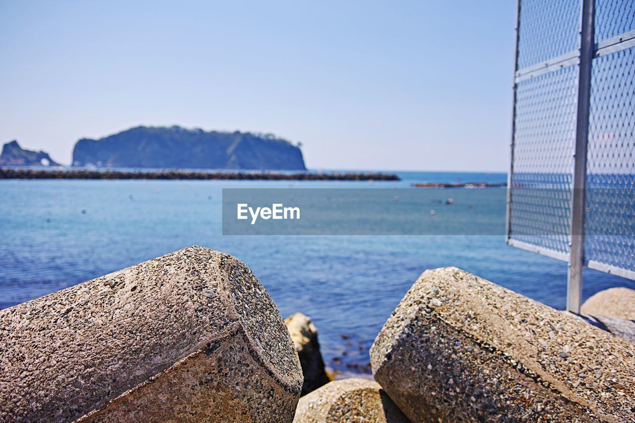
[[[606,1],[606,0],[597,0]],[[626,0],[625,3],[628,3]],[[635,280],[635,271],[615,267],[610,264],[594,260],[585,260],[585,192],[587,183],[587,144],[589,140],[589,111],[591,108],[591,84],[592,65],[594,58],[605,56],[617,51],[625,50],[635,46],[635,28],[627,32],[595,40],[595,15],[596,0],[580,0],[580,37],[578,50],[569,51],[563,55],[549,58],[543,62],[518,69],[519,65],[519,33],[522,24],[523,0],[516,2],[516,48],[514,54],[514,87],[513,87],[513,112],[512,112],[512,136],[511,136],[511,160],[510,170],[507,180],[507,244],[540,253],[547,257],[558,258],[568,262],[568,283],[566,309],[576,314],[580,313],[582,300],[582,269],[584,266],[590,269],[616,274],[624,278]],[[575,148],[573,151],[573,175],[571,184],[571,204],[570,204],[570,241],[569,252],[557,251],[545,246],[534,245],[519,239],[514,239],[512,232],[512,213],[514,212],[512,187],[514,187],[514,147],[516,140],[516,119],[517,119],[517,93],[518,84],[533,77],[542,76],[549,72],[563,69],[572,65],[578,65],[577,80],[577,114],[575,125]],[[632,236],[632,234],[631,234]]]

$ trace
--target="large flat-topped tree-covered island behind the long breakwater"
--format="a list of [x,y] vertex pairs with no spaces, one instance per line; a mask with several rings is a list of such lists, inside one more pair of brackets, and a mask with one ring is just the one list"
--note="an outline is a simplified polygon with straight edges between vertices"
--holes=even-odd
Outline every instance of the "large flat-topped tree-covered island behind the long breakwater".
[[306,170],[298,145],[273,135],[137,126],[75,144],[73,166]]

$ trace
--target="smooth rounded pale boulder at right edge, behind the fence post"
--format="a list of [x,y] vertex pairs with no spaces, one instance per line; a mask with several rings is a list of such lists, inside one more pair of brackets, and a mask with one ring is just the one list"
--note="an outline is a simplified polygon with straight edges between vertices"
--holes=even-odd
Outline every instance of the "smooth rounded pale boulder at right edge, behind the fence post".
[[603,290],[582,304],[582,314],[635,320],[635,290],[610,288]]

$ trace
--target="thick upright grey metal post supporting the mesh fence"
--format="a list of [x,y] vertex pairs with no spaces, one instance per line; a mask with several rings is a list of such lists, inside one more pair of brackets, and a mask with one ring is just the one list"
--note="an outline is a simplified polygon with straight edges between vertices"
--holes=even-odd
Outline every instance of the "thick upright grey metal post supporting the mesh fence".
[[584,213],[589,140],[589,107],[591,104],[591,65],[594,52],[595,0],[582,1],[580,34],[580,74],[578,78],[578,111],[573,157],[573,192],[571,206],[571,255],[566,286],[566,309],[580,314],[582,303],[582,267],[584,266]]

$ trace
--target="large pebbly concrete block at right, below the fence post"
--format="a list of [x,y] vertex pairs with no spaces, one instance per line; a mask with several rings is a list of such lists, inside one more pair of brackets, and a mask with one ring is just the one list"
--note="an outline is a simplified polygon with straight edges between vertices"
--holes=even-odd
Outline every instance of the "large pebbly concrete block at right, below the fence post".
[[425,271],[371,347],[413,421],[635,419],[635,345],[456,267]]

